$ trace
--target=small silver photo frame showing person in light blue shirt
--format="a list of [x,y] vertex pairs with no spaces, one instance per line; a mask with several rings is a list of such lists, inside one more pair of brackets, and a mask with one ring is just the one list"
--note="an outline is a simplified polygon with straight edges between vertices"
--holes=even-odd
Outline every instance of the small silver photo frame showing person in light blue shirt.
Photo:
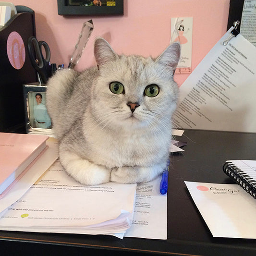
[[23,85],[27,133],[51,133],[52,122],[46,109],[47,86],[37,83]]

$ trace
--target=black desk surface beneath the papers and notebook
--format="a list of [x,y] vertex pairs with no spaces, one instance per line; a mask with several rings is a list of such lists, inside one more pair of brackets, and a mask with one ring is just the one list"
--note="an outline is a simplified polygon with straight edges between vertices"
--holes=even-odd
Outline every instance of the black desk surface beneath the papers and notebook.
[[233,183],[222,165],[228,159],[255,159],[256,134],[186,130],[177,139],[187,146],[171,155],[167,240],[0,231],[1,255],[35,255],[36,250],[36,255],[255,256],[256,240],[212,237],[183,181]]

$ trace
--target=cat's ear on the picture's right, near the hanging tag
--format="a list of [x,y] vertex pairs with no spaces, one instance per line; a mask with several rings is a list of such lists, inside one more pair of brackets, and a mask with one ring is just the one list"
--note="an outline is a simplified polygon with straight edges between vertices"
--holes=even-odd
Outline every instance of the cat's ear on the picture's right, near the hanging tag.
[[179,42],[174,42],[169,45],[165,51],[157,58],[161,64],[169,66],[173,73],[178,65],[181,56],[181,45]]

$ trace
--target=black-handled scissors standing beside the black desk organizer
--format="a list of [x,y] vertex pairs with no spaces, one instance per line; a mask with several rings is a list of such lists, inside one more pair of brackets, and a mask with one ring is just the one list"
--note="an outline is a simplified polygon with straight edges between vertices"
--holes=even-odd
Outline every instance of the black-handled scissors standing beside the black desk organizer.
[[[45,57],[42,53],[45,49]],[[38,72],[41,82],[46,84],[51,76],[50,49],[45,41],[37,41],[36,37],[29,37],[27,41],[28,55],[32,66]]]

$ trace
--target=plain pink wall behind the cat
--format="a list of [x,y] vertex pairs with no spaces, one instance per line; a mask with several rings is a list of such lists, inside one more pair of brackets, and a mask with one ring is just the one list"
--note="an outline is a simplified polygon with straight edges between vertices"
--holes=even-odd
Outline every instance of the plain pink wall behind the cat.
[[[95,65],[93,41],[107,39],[117,53],[157,57],[169,44],[171,17],[193,17],[192,69],[225,33],[229,0],[124,0],[123,16],[58,15],[57,0],[12,0],[36,13],[37,39],[51,49],[51,62],[68,65],[82,24],[92,19],[95,29],[76,69]],[[187,74],[175,75],[179,85]]]

